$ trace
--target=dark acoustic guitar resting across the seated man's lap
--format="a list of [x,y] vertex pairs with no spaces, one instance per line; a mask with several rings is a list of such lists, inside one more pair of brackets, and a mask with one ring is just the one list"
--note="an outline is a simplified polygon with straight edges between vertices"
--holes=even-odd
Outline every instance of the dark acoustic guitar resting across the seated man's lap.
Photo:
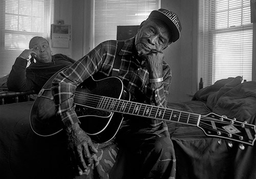
[[[40,136],[52,136],[62,130],[63,124],[55,116],[51,77],[39,92],[30,113],[32,130]],[[253,145],[255,125],[228,119],[214,113],[202,116],[186,111],[163,108],[129,101],[130,95],[124,90],[117,77],[102,80],[88,78],[76,88],[75,111],[81,122],[80,127],[95,142],[102,143],[113,139],[122,122],[122,114],[154,118],[197,126],[206,136]],[[240,145],[240,148],[244,147]]]

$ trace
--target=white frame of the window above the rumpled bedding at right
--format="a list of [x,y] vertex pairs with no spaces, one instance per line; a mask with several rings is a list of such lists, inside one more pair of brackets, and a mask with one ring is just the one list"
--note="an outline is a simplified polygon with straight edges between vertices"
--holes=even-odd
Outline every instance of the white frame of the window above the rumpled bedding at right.
[[[216,1],[214,1],[216,2]],[[208,15],[207,18],[208,20],[208,26],[204,26],[205,29],[208,31],[207,35],[208,35],[208,39],[212,39],[212,40],[203,40],[204,37],[204,32],[203,32],[203,25],[204,25],[204,10],[201,9],[202,3],[206,3],[206,1],[202,1],[199,0],[199,13],[198,13],[198,19],[199,19],[199,27],[198,27],[198,83],[199,83],[199,79],[201,77],[203,77],[204,80],[204,86],[210,85],[212,83],[214,83],[214,79],[213,79],[213,71],[214,71],[214,42],[215,42],[215,38],[216,35],[224,33],[224,32],[240,32],[242,30],[252,30],[252,37],[254,37],[253,33],[255,34],[255,28],[253,28],[253,24],[248,24],[248,25],[241,25],[241,26],[236,26],[236,27],[226,27],[226,28],[222,28],[222,29],[217,29],[216,28],[216,23],[212,23],[212,21],[216,20],[216,16],[210,16],[209,12],[210,12],[210,8],[208,9]],[[212,1],[210,2],[212,3]],[[209,4],[210,4],[209,3]],[[212,5],[216,7],[215,5]],[[214,13],[214,11],[212,11],[212,13]],[[214,26],[212,26],[212,24],[214,24]],[[211,25],[211,28],[210,28]],[[255,40],[252,41],[252,68],[251,68],[251,78],[252,80],[255,79],[255,50],[253,50],[253,46],[255,43]],[[208,50],[208,51],[204,51],[204,46],[207,46],[208,49],[209,47],[212,47],[212,51]],[[253,53],[254,52],[254,53]],[[204,58],[206,58],[207,60],[204,60]],[[206,66],[206,68],[205,68]],[[231,76],[230,76],[231,77]],[[218,79],[219,80],[219,79]],[[249,79],[250,80],[250,79]]]

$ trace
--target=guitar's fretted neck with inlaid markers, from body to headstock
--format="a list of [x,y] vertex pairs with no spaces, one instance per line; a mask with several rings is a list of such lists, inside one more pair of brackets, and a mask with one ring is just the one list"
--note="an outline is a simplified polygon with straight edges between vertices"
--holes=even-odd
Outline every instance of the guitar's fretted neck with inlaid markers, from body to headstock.
[[101,97],[97,109],[198,126],[201,115],[164,107]]

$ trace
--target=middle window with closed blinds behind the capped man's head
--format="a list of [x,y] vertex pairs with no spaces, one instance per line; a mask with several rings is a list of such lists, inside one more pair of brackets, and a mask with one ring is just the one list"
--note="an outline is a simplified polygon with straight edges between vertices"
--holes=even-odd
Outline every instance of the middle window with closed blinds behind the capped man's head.
[[140,25],[151,11],[160,8],[160,0],[95,0],[94,46],[116,39],[117,26]]

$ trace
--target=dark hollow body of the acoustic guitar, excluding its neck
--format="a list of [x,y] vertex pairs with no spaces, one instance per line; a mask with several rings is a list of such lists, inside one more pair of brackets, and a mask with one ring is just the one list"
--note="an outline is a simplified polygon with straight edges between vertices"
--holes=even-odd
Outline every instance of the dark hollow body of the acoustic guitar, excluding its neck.
[[[44,85],[31,108],[31,128],[39,136],[55,135],[63,127],[61,119],[55,115],[55,104],[51,91],[52,80],[56,75],[52,76]],[[91,96],[83,94],[95,95],[96,98],[99,95],[130,100],[129,93],[124,91],[123,83],[117,77],[102,80],[94,80],[89,77],[76,88],[74,103],[77,117],[81,122],[80,127],[88,133],[94,142],[110,141],[121,125],[122,114],[97,109],[97,103],[93,103],[94,100],[91,99]],[[90,99],[88,100],[88,98]]]

